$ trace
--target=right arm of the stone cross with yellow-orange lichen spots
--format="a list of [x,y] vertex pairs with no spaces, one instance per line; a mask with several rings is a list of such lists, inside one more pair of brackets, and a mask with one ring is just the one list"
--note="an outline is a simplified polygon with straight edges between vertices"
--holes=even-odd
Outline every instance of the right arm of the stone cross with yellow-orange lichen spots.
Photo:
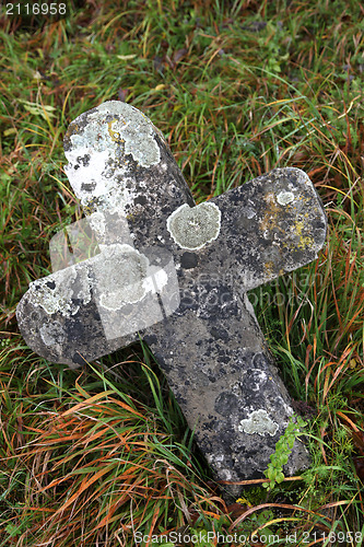
[[277,168],[209,201],[221,211],[225,267],[248,291],[317,258],[322,203],[298,168]]

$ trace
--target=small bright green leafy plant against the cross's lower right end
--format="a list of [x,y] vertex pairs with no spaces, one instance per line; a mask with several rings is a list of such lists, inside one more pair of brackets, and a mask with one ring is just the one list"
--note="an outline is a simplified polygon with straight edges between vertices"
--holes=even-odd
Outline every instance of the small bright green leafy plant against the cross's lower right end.
[[275,485],[283,482],[283,466],[289,462],[289,456],[292,452],[294,441],[303,434],[302,429],[306,427],[306,422],[301,416],[290,418],[290,423],[280,440],[275,444],[275,452],[270,456],[271,463],[265,472],[269,482],[263,482],[263,487],[271,491]]

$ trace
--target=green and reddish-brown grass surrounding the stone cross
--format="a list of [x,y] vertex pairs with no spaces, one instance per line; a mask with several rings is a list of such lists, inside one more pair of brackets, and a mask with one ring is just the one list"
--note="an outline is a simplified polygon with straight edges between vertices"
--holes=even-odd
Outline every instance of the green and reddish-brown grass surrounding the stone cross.
[[[107,0],[49,25],[1,15],[1,546],[131,546],[137,532],[362,545],[363,14],[341,0]],[[226,507],[144,346],[70,371],[19,334],[49,240],[82,217],[62,136],[111,98],[163,131],[197,202],[294,166],[325,203],[318,260],[249,294],[309,422],[312,468],[268,497],[257,481]]]

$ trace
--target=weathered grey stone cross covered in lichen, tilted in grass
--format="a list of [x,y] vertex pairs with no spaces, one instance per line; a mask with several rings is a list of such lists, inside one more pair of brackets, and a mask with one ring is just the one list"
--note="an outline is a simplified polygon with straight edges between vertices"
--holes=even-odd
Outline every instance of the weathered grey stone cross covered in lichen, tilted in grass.
[[[79,366],[141,337],[215,477],[261,477],[293,409],[246,293],[317,258],[309,178],[277,168],[196,205],[162,133],[117,101],[79,116],[64,152],[95,252],[57,265],[54,248],[58,270],[17,306],[26,342]],[[284,470],[307,464],[296,441]]]

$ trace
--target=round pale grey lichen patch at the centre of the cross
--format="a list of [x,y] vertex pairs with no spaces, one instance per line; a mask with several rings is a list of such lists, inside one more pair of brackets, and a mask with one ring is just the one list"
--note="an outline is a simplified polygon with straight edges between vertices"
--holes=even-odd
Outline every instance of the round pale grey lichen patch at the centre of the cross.
[[167,219],[167,230],[181,248],[196,251],[216,240],[221,228],[221,211],[215,203],[178,207]]

